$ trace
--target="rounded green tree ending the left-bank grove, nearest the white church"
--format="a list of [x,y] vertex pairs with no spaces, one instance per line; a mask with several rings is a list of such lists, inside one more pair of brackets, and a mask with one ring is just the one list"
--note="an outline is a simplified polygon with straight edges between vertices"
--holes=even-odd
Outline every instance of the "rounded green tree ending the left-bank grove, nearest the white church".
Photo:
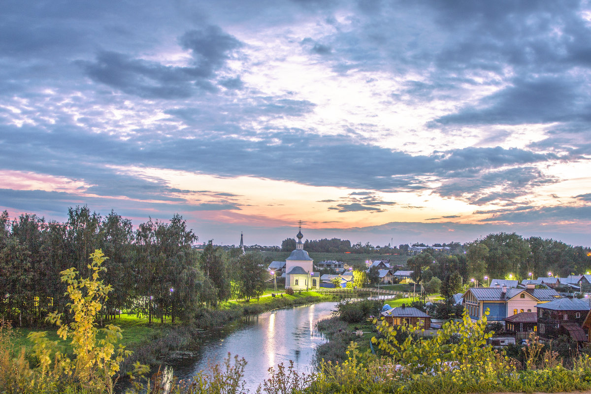
[[234,275],[237,292],[240,298],[249,301],[259,297],[265,290],[264,277],[267,275],[262,266],[264,260],[260,252],[248,252],[238,258],[235,263]]

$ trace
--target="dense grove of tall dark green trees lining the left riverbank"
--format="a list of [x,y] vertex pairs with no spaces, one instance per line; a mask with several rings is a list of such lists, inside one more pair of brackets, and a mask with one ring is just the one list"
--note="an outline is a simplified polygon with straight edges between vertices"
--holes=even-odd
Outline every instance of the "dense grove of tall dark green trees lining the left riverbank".
[[[101,274],[113,288],[102,311],[105,319],[131,310],[150,321],[174,321],[225,301],[232,292],[247,297],[259,291],[262,261],[254,259],[252,271],[245,266],[253,260],[250,253],[232,255],[211,242],[197,252],[192,248],[196,242],[197,236],[178,214],[169,222],[150,219],[134,230],[131,220],[113,211],[103,217],[86,206],[70,208],[65,223],[46,222],[34,214],[11,220],[4,211],[0,214],[0,318],[17,325],[38,325],[47,312],[66,312],[66,285],[60,281],[60,272],[74,267],[86,278],[89,255],[95,249],[102,249],[109,258],[103,263],[107,271]],[[248,273],[247,292],[242,272]]]

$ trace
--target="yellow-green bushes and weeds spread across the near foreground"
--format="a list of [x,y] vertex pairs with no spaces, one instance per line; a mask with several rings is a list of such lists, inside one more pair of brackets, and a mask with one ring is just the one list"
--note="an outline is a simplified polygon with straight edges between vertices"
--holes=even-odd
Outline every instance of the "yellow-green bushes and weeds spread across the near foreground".
[[[115,325],[99,330],[96,312],[108,298],[110,286],[99,280],[104,272],[105,256],[100,250],[92,255],[88,268],[92,275],[79,279],[75,269],[62,272],[67,282],[70,324],[61,322],[61,315],[51,314],[49,320],[60,326],[60,336],[72,338],[76,357],[70,359],[55,349],[55,343],[43,334],[33,336],[34,354],[30,365],[24,350],[11,349],[11,325],[0,328],[0,392],[25,394],[101,394],[112,393],[119,362],[126,353],[116,343],[121,330]],[[346,304],[346,303],[345,303]],[[373,310],[374,305],[348,305],[347,310]],[[345,309],[343,309],[344,311]],[[269,377],[261,382],[257,393],[487,393],[495,391],[557,392],[591,388],[591,358],[581,354],[570,369],[564,367],[556,354],[532,337],[524,347],[525,363],[486,344],[486,316],[473,323],[465,314],[459,322],[448,322],[431,339],[421,339],[419,328],[408,325],[390,327],[384,320],[372,321],[379,336],[372,338],[387,356],[361,353],[355,343],[345,351],[342,363],[320,362],[314,373],[298,373],[293,364],[280,364],[269,369]],[[102,331],[102,336],[100,333]],[[401,335],[405,334],[405,335]],[[404,338],[404,340],[401,340]],[[53,356],[53,357],[52,357]],[[53,358],[53,360],[52,360]],[[238,357],[226,359],[221,366],[197,373],[186,382],[144,378],[148,368],[136,363],[132,377],[134,387],[128,393],[237,394],[245,392],[243,373],[246,362]]]

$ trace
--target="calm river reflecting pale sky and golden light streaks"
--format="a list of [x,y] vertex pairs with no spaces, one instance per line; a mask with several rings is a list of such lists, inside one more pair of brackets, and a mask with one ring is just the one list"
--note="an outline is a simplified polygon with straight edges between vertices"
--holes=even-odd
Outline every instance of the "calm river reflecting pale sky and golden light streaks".
[[320,302],[245,317],[219,330],[204,334],[199,349],[176,352],[165,360],[168,373],[180,380],[191,379],[212,364],[222,364],[238,355],[246,360],[245,387],[254,392],[268,377],[269,367],[290,360],[299,372],[311,372],[314,349],[325,338],[316,330],[319,320],[330,317],[335,302]]

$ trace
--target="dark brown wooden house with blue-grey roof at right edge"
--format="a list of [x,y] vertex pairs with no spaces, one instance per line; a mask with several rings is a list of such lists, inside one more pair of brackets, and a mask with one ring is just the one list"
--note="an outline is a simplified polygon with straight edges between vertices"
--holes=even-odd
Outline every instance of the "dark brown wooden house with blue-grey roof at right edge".
[[545,338],[567,335],[586,342],[588,337],[582,326],[590,309],[589,302],[579,298],[560,298],[538,304],[538,332]]

